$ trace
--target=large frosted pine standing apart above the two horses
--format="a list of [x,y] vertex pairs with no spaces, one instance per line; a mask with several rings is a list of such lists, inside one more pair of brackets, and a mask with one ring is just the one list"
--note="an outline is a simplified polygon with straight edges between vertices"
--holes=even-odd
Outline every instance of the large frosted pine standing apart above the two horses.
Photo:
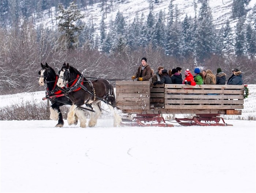
[[67,9],[64,9],[62,4],[59,4],[59,15],[56,17],[59,20],[58,29],[67,38],[67,48],[76,46],[77,37],[84,28],[84,23],[81,21],[84,15],[77,8],[77,5],[72,2]]

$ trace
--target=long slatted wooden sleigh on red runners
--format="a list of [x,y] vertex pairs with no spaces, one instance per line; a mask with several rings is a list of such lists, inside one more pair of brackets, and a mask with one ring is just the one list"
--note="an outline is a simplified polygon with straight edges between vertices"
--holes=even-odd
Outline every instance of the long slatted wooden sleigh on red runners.
[[241,115],[244,85],[161,84],[149,81],[117,81],[116,105],[123,113],[136,114],[122,125],[163,126],[162,114],[196,114],[175,118],[183,126],[232,126],[221,115]]

